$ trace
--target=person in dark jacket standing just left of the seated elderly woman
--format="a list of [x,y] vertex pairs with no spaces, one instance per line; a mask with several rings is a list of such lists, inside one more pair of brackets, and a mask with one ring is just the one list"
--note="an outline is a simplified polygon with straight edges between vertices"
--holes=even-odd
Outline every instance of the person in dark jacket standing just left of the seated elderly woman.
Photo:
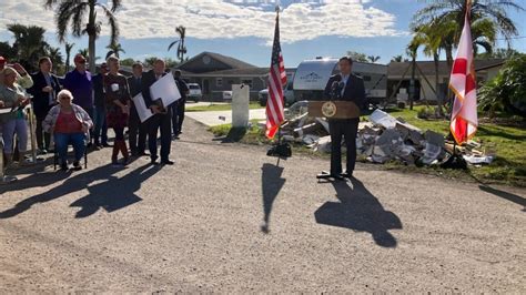
[[31,100],[33,103],[34,116],[37,118],[37,144],[41,154],[45,154],[49,150],[50,134],[43,132],[42,122],[48,115],[51,106],[57,104],[57,94],[61,87],[59,79],[51,71],[53,63],[48,57],[39,60],[40,71],[31,75],[33,85],[28,90],[33,95]]

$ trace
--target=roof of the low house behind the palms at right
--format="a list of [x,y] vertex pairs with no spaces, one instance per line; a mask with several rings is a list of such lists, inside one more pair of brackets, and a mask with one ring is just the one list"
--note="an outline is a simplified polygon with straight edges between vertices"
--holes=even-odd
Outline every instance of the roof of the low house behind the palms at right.
[[[504,59],[485,59],[485,60],[475,60],[475,71],[482,71],[495,67],[500,67],[506,60]],[[416,64],[422,70],[425,75],[435,74],[435,62],[434,61],[417,61]],[[388,77],[402,77],[407,68],[411,67],[411,61],[406,62],[390,62],[387,65],[387,75]],[[438,73],[441,75],[448,75],[451,73],[451,68],[446,61],[438,62]],[[411,74],[411,70],[407,71],[406,77]],[[417,72],[418,74],[418,72]]]

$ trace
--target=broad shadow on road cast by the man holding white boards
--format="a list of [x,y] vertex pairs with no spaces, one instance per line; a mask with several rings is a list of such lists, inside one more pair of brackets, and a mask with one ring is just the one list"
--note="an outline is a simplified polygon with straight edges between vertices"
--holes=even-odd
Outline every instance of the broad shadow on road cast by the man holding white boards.
[[97,213],[99,208],[111,213],[140,202],[142,199],[135,192],[141,189],[142,182],[153,176],[159,170],[158,166],[146,164],[122,179],[111,176],[105,182],[89,186],[89,194],[74,201],[70,206],[80,207],[75,217],[82,218]]

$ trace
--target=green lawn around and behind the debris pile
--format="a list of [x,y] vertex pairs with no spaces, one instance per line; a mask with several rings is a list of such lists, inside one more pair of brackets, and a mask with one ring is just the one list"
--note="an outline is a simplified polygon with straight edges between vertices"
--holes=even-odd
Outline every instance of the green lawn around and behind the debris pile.
[[[395,118],[403,118],[408,123],[422,129],[432,130],[435,132],[448,133],[449,121],[447,120],[422,120],[416,118],[419,108],[409,111],[404,110],[391,110],[391,115]],[[367,116],[363,116],[366,119]],[[230,124],[219,125],[210,129],[215,135],[225,136],[229,135],[233,141],[239,141],[249,144],[269,144],[269,141],[264,136],[263,130],[253,122],[253,126],[246,131],[231,131]],[[235,136],[234,136],[235,135]],[[490,165],[484,165],[482,167],[469,166],[468,172],[442,170],[436,167],[414,167],[404,166],[398,163],[388,163],[384,166],[386,169],[395,169],[403,171],[416,171],[419,173],[432,173],[438,175],[445,175],[449,177],[465,177],[476,179],[484,182],[498,182],[506,184],[514,184],[519,186],[526,186],[526,129],[517,126],[505,126],[492,123],[481,123],[478,132],[474,138],[475,141],[481,142],[484,149],[485,146],[493,145],[496,150],[497,159]],[[311,150],[296,145],[294,146],[295,152],[315,154]]]

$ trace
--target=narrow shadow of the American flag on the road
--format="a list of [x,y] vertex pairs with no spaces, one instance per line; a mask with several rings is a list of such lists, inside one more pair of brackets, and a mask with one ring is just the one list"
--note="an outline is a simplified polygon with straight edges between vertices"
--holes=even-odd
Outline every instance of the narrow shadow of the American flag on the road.
[[269,233],[269,223],[271,217],[272,204],[280,193],[281,189],[285,184],[285,179],[281,175],[283,174],[283,167],[277,165],[265,163],[261,167],[261,189],[263,192],[263,223],[261,225],[261,231],[263,233]]

